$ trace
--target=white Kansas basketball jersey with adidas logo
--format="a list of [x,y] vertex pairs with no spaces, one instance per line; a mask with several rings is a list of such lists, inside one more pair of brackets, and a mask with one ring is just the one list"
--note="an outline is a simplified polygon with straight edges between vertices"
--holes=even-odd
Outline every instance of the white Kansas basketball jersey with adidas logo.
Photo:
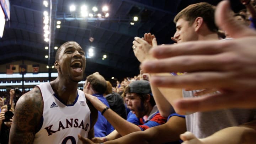
[[84,92],[78,90],[74,104],[65,105],[54,95],[49,82],[38,87],[43,97],[43,119],[34,144],[81,144],[78,134],[87,138],[91,126]]

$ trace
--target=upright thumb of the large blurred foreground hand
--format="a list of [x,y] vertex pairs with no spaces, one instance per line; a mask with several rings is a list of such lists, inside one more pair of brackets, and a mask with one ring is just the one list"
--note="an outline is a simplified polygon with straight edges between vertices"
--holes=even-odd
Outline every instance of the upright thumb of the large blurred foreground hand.
[[221,30],[226,31],[233,38],[256,36],[255,31],[235,20],[231,14],[230,1],[228,0],[221,1],[216,7],[215,22]]

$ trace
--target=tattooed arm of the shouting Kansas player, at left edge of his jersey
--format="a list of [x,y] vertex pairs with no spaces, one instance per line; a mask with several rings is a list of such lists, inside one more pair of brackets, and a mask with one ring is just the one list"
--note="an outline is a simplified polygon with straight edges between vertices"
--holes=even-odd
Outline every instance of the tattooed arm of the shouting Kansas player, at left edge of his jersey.
[[43,100],[37,87],[21,96],[15,107],[9,143],[32,144],[42,112]]

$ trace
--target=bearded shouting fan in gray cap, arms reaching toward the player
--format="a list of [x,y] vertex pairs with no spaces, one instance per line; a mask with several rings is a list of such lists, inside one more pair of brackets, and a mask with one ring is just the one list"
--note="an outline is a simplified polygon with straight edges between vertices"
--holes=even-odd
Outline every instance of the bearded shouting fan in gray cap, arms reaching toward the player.
[[[94,96],[85,94],[86,99],[92,105],[102,112],[102,115],[111,123],[116,129],[106,137],[93,138],[95,143],[102,143],[108,140],[117,139],[121,136],[127,135],[132,132],[144,131],[150,127],[159,126],[166,123],[166,119],[160,115],[158,108],[155,105],[154,98],[151,94],[150,84],[145,80],[138,80],[126,86],[123,96],[126,97],[127,106],[131,112],[128,114],[127,120],[120,117],[117,113],[106,107],[101,101]],[[80,139],[83,142],[84,138]]]

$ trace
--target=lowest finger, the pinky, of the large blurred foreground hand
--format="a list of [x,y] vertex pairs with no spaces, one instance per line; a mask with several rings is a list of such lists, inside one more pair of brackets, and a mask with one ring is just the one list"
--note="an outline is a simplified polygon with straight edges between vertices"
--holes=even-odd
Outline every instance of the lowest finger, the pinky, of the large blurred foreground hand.
[[[244,96],[241,96],[244,95]],[[250,92],[223,92],[203,97],[183,98],[174,102],[178,111],[197,112],[227,108],[255,108],[255,96]]]

